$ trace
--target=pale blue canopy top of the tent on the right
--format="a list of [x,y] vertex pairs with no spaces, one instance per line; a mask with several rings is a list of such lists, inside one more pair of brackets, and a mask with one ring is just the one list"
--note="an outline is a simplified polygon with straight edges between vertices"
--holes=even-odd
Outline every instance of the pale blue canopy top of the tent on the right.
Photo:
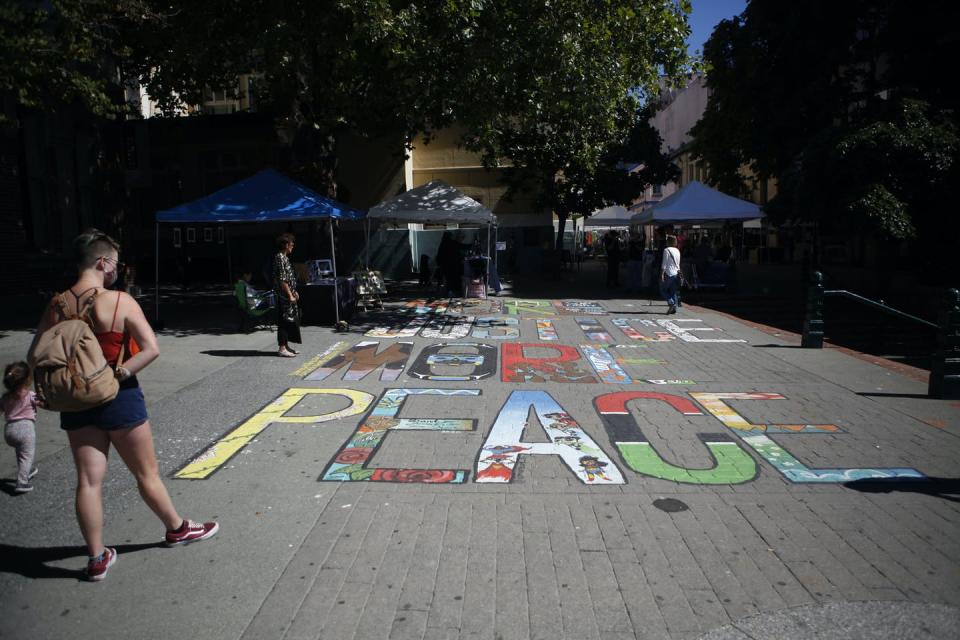
[[633,224],[744,222],[764,216],[760,207],[694,180],[655,205],[634,214]]

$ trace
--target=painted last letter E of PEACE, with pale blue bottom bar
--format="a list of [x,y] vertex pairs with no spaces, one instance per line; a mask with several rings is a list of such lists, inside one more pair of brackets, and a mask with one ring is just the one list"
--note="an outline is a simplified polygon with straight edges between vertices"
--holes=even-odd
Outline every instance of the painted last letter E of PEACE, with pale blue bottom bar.
[[909,467],[882,467],[874,469],[836,468],[811,469],[766,434],[837,433],[836,425],[760,425],[750,424],[724,400],[785,400],[779,393],[694,393],[690,396],[703,405],[715,418],[729,427],[741,440],[760,454],[783,476],[796,483],[840,483],[870,478],[925,478]]

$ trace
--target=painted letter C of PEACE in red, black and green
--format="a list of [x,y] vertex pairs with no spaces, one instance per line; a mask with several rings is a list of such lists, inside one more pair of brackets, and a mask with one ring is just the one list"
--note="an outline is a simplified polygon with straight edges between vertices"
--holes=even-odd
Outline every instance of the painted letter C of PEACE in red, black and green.
[[594,406],[604,429],[627,468],[653,478],[686,484],[739,484],[756,477],[757,463],[730,436],[722,433],[697,434],[713,457],[709,468],[690,469],[664,460],[627,411],[627,403],[641,399],[665,402],[683,415],[703,415],[686,398],[665,393],[622,391],[595,398]]

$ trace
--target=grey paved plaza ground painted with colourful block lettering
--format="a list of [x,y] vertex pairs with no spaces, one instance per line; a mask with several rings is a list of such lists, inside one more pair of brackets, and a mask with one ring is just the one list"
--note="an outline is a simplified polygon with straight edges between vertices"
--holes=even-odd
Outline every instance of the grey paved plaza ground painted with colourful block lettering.
[[[269,332],[161,334],[142,376],[161,467],[183,514],[222,529],[160,547],[113,460],[103,583],[79,581],[73,466],[43,415],[37,490],[0,495],[0,637],[955,635],[960,403],[688,307],[419,310],[306,327],[290,360]],[[400,346],[379,369],[362,341]]]

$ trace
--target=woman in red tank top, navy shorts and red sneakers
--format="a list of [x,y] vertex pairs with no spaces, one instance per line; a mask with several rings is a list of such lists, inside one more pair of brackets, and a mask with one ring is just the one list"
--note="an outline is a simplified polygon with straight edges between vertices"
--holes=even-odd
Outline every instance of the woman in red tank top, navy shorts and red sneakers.
[[[77,470],[77,520],[89,554],[85,576],[99,581],[117,560],[116,549],[103,544],[102,489],[111,446],[136,479],[143,501],[166,528],[167,546],[206,540],[217,533],[219,525],[180,517],[160,478],[146,404],[137,381],[137,374],[156,360],[160,348],[137,301],[124,292],[108,291],[123,272],[120,246],[107,234],[89,229],[74,240],[73,248],[77,281],[44,311],[27,360],[36,362],[34,350],[48,329],[63,320],[79,319],[90,325],[119,381],[112,400],[60,413],[60,428],[67,432]],[[124,353],[129,359],[118,364]]]

